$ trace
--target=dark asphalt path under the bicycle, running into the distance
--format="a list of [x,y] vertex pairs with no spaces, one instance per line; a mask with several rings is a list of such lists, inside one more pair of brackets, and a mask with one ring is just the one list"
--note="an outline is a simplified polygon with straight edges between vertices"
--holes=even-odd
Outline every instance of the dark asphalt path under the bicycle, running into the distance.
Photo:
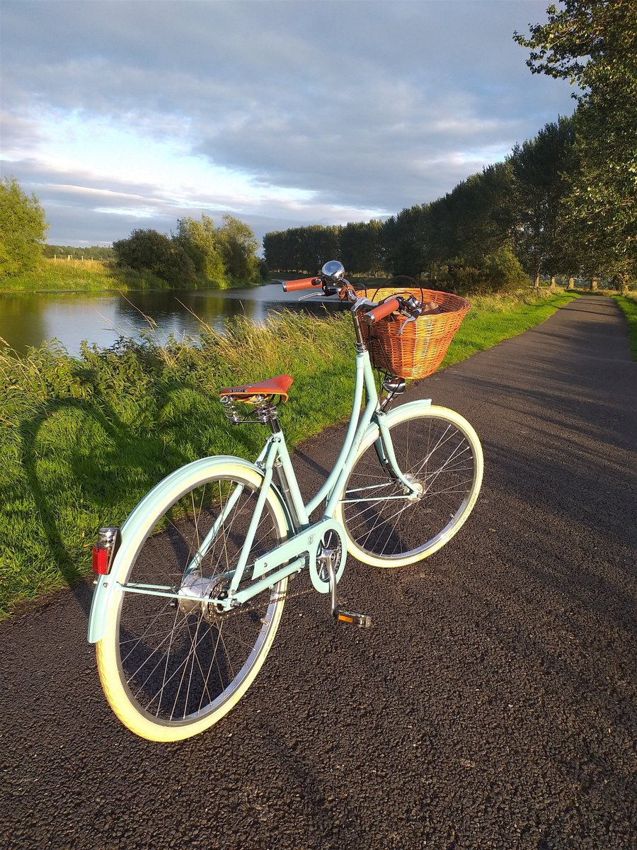
[[[0,627],[3,847],[637,847],[623,318],[581,297],[419,395],[481,436],[471,518],[414,567],[349,562],[341,598],[373,629],[290,600],[256,683],[206,734],[121,727],[86,643],[89,586]],[[296,452],[308,490],[339,439]]]

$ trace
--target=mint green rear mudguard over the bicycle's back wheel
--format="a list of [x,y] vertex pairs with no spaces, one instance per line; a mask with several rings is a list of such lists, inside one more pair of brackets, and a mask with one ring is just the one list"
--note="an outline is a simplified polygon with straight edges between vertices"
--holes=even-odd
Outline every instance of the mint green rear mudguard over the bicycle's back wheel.
[[[262,470],[256,464],[245,461],[241,457],[225,455],[203,457],[199,461],[193,461],[184,467],[176,469],[175,472],[162,479],[159,484],[155,484],[155,487],[132,509],[132,512],[121,526],[120,547],[117,550],[115,558],[113,558],[110,573],[109,575],[99,576],[99,581],[93,592],[93,601],[91,602],[91,610],[88,615],[88,643],[97,643],[97,641],[104,637],[107,612],[110,609],[110,605],[121,595],[121,590],[118,587],[115,576],[121,564],[128,564],[132,558],[137,556],[148,530],[149,515],[156,513],[159,507],[161,507],[161,504],[166,501],[166,497],[169,494],[178,496],[180,490],[181,492],[186,492],[193,484],[196,484],[200,480],[202,473],[213,472],[217,467],[227,464],[243,467],[245,470],[256,473],[259,478],[263,477]],[[279,491],[273,485],[272,490],[279,499],[285,511],[285,517],[289,521],[289,513]]]

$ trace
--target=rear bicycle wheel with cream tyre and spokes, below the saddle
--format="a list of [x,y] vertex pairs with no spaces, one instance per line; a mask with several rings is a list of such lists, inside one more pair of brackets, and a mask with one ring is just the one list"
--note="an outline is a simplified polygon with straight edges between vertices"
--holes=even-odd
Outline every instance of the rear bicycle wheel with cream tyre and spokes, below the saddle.
[[[96,646],[111,708],[132,732],[159,741],[202,732],[245,694],[272,645],[287,586],[283,579],[228,612],[207,604],[234,575],[262,477],[228,462],[179,480],[160,485],[154,507],[136,509],[138,543],[124,553],[122,542],[125,557],[110,575],[132,590],[113,596]],[[247,563],[286,535],[284,510],[269,490]]]

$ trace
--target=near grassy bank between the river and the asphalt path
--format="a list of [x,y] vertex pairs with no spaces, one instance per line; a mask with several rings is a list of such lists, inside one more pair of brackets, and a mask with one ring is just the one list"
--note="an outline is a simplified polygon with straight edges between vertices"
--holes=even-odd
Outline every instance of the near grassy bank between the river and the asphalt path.
[[[476,298],[447,364],[537,325],[572,295]],[[97,530],[120,524],[172,469],[211,454],[255,456],[265,434],[231,428],[223,386],[290,372],[281,422],[291,443],[347,417],[352,394],[347,314],[235,320],[200,345],[125,342],[0,354],[0,616],[87,572]]]

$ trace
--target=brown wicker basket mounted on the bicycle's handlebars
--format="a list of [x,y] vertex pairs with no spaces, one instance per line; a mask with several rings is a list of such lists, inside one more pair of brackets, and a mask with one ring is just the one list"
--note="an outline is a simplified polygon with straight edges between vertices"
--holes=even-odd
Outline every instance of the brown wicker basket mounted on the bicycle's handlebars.
[[[405,317],[395,313],[371,327],[364,326],[372,363],[376,368],[398,377],[427,377],[443,362],[449,343],[471,304],[451,292],[420,289],[420,286],[407,289],[392,286],[365,291],[365,296],[375,302],[397,295],[414,295],[421,303],[434,301],[443,312],[422,315],[406,325]],[[403,333],[399,336],[401,328]]]

